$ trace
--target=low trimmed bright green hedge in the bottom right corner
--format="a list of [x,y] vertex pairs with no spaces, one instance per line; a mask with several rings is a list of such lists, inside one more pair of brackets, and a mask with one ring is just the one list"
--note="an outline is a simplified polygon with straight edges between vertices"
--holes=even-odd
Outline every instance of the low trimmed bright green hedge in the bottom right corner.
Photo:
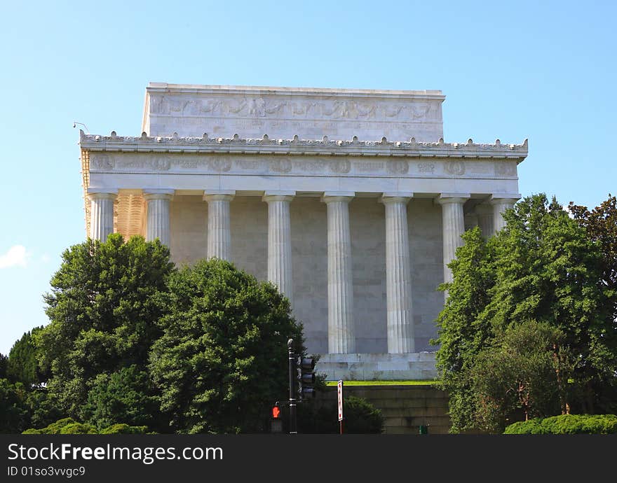
[[562,414],[510,424],[504,434],[617,434],[615,414]]

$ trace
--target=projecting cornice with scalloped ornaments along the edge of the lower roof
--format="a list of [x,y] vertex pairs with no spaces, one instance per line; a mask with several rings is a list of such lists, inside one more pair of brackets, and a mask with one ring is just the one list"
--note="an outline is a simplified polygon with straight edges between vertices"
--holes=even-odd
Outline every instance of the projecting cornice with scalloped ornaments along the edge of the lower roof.
[[121,151],[139,153],[221,153],[221,154],[281,154],[281,155],[365,155],[365,156],[407,156],[419,158],[509,158],[524,160],[528,153],[528,141],[522,144],[502,144],[499,139],[494,144],[475,144],[472,139],[466,143],[388,141],[351,141],[323,139],[270,139],[264,134],[262,139],[233,138],[149,137],[144,132],[139,137],[118,136],[112,131],[109,136],[79,132],[79,144],[88,151]]

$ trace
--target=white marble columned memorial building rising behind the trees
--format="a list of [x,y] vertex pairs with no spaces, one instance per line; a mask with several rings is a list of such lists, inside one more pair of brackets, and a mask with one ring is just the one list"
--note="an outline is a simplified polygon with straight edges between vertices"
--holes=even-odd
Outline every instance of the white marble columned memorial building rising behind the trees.
[[142,135],[84,134],[88,236],[272,281],[328,379],[435,375],[447,263],[518,195],[523,144],[443,140],[437,90],[151,83]]

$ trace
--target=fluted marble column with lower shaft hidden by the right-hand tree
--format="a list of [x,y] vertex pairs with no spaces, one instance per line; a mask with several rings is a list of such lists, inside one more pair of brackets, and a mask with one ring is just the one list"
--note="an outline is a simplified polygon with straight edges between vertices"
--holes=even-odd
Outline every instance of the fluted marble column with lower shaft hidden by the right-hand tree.
[[463,204],[469,196],[469,193],[442,193],[435,200],[442,205],[443,263],[444,282],[446,283],[452,282],[452,269],[448,267],[448,264],[456,257],[456,248],[463,244],[463,239],[461,239],[465,231]]

